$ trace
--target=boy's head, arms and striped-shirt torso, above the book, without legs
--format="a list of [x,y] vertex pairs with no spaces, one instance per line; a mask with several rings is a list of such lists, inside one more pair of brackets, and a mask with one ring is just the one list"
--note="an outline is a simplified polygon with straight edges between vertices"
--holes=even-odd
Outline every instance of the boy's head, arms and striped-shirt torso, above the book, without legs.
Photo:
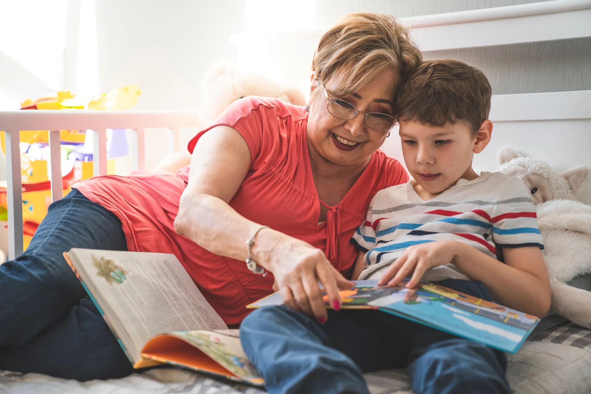
[[492,133],[485,75],[460,61],[426,61],[397,104],[414,179],[374,196],[353,235],[360,250],[353,279],[395,285],[411,275],[408,287],[421,278],[479,281],[496,302],[543,316],[550,282],[530,192],[517,178],[472,169]]

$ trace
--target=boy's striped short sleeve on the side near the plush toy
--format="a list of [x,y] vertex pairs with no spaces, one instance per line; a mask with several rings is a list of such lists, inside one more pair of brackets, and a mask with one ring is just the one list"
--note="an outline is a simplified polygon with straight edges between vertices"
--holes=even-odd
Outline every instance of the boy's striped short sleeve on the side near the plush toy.
[[530,191],[519,180],[505,185],[493,210],[492,239],[497,248],[537,246],[544,249]]

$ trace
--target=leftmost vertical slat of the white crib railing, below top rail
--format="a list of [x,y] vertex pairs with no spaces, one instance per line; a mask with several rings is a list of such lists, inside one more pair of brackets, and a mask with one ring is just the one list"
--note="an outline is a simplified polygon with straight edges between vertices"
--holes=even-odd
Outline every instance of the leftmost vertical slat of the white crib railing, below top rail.
[[22,183],[20,132],[5,131],[8,202],[8,259],[22,255]]

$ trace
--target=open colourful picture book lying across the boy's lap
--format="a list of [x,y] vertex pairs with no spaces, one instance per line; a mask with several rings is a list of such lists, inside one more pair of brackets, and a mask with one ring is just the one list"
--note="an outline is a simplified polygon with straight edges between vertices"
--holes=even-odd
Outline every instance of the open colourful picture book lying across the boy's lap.
[[[517,352],[540,322],[535,316],[430,282],[411,289],[405,287],[407,281],[392,287],[378,286],[378,281],[353,282],[355,288],[340,291],[342,308],[380,310],[508,353]],[[274,293],[246,308],[282,303],[281,294]],[[324,303],[329,308],[326,295]]]

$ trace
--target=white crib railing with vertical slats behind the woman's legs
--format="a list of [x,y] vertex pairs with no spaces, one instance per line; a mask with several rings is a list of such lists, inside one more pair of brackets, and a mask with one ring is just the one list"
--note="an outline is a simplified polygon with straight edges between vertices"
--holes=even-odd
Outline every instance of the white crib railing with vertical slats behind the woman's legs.
[[107,129],[131,129],[131,157],[134,170],[144,170],[144,130],[167,129],[168,151],[179,149],[179,129],[196,127],[196,112],[138,111],[67,111],[16,110],[0,111],[0,131],[6,142],[8,199],[8,258],[22,254],[22,184],[20,158],[21,130],[49,130],[51,201],[63,196],[61,181],[60,130],[93,131],[94,175],[107,172]]

